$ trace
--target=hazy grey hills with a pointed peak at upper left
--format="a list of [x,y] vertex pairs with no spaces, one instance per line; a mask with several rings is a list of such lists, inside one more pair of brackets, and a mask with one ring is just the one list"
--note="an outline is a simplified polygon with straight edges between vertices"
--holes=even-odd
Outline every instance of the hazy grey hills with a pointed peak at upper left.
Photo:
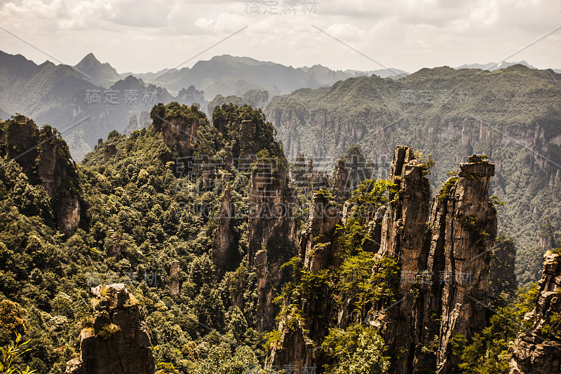
[[[89,77],[89,79],[88,79]],[[75,67],[41,65],[22,55],[0,51],[0,118],[15,113],[47,123],[61,131],[72,156],[80,161],[111,130],[135,130],[129,119],[146,117],[158,102],[207,104],[201,91],[187,86],[178,95],[165,88],[145,84],[134,76],[121,77],[108,63],[93,54]]]

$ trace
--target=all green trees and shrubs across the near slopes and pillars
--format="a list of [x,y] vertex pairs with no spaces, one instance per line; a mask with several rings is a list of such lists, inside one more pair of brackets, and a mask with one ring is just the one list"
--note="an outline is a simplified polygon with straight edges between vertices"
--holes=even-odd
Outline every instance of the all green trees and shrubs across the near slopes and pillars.
[[[285,171],[275,128],[261,110],[247,105],[217,107],[212,120],[222,121],[222,130],[196,106],[157,105],[151,114],[154,123],[130,136],[109,133],[107,142],[116,145],[116,156],[104,161],[102,144],[77,166],[79,183],[72,191],[80,196],[83,215],[72,236],[55,230],[53,199],[43,187],[30,181],[17,161],[0,159],[0,346],[15,352],[11,362],[18,370],[29,366],[25,370],[38,373],[65,371],[65,363],[79,351],[80,331],[92,328],[90,287],[100,283],[126,283],[135,295],[131,302],[146,313],[161,373],[243,373],[248,366],[262,366],[266,350],[280,341],[280,331],[259,334],[254,328],[259,295],[255,269],[248,261],[247,234],[249,173],[271,159],[280,166],[273,179]],[[218,162],[204,179],[185,173],[176,163],[175,149],[156,130],[177,116],[198,121],[193,156],[224,160],[256,151],[257,162],[245,170]],[[243,131],[248,126],[244,121],[255,123],[255,133]],[[56,135],[50,128],[43,131]],[[419,160],[428,173],[434,165],[431,157],[419,155]],[[231,201],[239,213],[231,221],[239,261],[218,278],[212,242],[224,175],[233,187]],[[454,178],[441,196],[450,193]],[[321,189],[315,192],[316,199],[337,205],[333,192]],[[301,203],[297,223],[302,227],[309,196],[299,189],[295,194]],[[401,297],[400,268],[396,258],[375,255],[379,243],[372,241],[369,224],[377,210],[397,195],[396,185],[386,180],[363,180],[354,189],[346,200],[344,225],[312,239],[316,253],[338,248],[333,253],[337,265],[310,272],[298,257],[290,258],[293,248],[286,250],[285,238],[267,243],[271,255],[288,260],[281,270],[290,273],[276,290],[281,307],[277,319],[304,336],[313,328],[325,331],[315,348],[327,357],[323,368],[327,373],[374,374],[388,368],[384,341],[379,331],[365,325],[365,319],[372,308],[391,305]],[[491,279],[491,288],[492,306],[498,313],[470,341],[460,336],[454,340],[460,368],[466,373],[491,373],[485,368],[492,365],[496,373],[504,370],[522,317],[535,302],[536,288],[515,291],[514,272],[508,267],[514,242],[499,236],[496,247],[492,266],[497,276]],[[168,274],[174,260],[182,264],[181,288],[180,295],[171,297]],[[104,296],[107,288],[100,293]],[[342,302],[349,305],[346,328],[335,328],[335,321],[316,313],[325,303],[338,307]],[[316,326],[308,325],[310,315]],[[560,323],[561,317],[553,316],[542,333],[559,338]],[[118,326],[107,324],[98,337],[108,339],[118,332]],[[20,343],[19,335],[25,343]]]

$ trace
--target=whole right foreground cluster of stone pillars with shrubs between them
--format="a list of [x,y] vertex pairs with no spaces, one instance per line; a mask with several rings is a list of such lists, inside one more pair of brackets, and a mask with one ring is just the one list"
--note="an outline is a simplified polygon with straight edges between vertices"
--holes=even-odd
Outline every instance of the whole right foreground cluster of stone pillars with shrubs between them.
[[[384,338],[389,373],[459,373],[450,340],[469,340],[487,326],[496,235],[488,196],[494,166],[484,156],[467,161],[432,207],[432,161],[404,146],[396,147],[391,179],[365,180],[344,208],[316,192],[299,262],[288,264],[293,280],[281,293],[269,364],[334,373],[346,367],[330,349],[337,336],[352,340],[374,329]],[[340,218],[326,215],[328,206]],[[426,349],[432,345],[438,348]],[[383,360],[377,365],[386,367]]]

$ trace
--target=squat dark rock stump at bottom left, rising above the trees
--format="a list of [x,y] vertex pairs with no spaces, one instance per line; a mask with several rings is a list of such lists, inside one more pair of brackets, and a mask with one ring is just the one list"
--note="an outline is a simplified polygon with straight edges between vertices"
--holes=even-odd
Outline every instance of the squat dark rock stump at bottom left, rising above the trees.
[[67,374],[153,374],[150,336],[138,300],[122,283],[92,288],[93,327],[80,334],[80,356]]

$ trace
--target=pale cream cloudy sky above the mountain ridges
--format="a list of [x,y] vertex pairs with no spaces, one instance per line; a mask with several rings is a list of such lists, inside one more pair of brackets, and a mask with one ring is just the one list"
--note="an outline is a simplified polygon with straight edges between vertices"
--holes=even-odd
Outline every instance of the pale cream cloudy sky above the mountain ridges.
[[119,73],[224,54],[415,72],[515,53],[561,69],[561,0],[1,0],[0,20],[1,51],[68,65],[92,52]]

